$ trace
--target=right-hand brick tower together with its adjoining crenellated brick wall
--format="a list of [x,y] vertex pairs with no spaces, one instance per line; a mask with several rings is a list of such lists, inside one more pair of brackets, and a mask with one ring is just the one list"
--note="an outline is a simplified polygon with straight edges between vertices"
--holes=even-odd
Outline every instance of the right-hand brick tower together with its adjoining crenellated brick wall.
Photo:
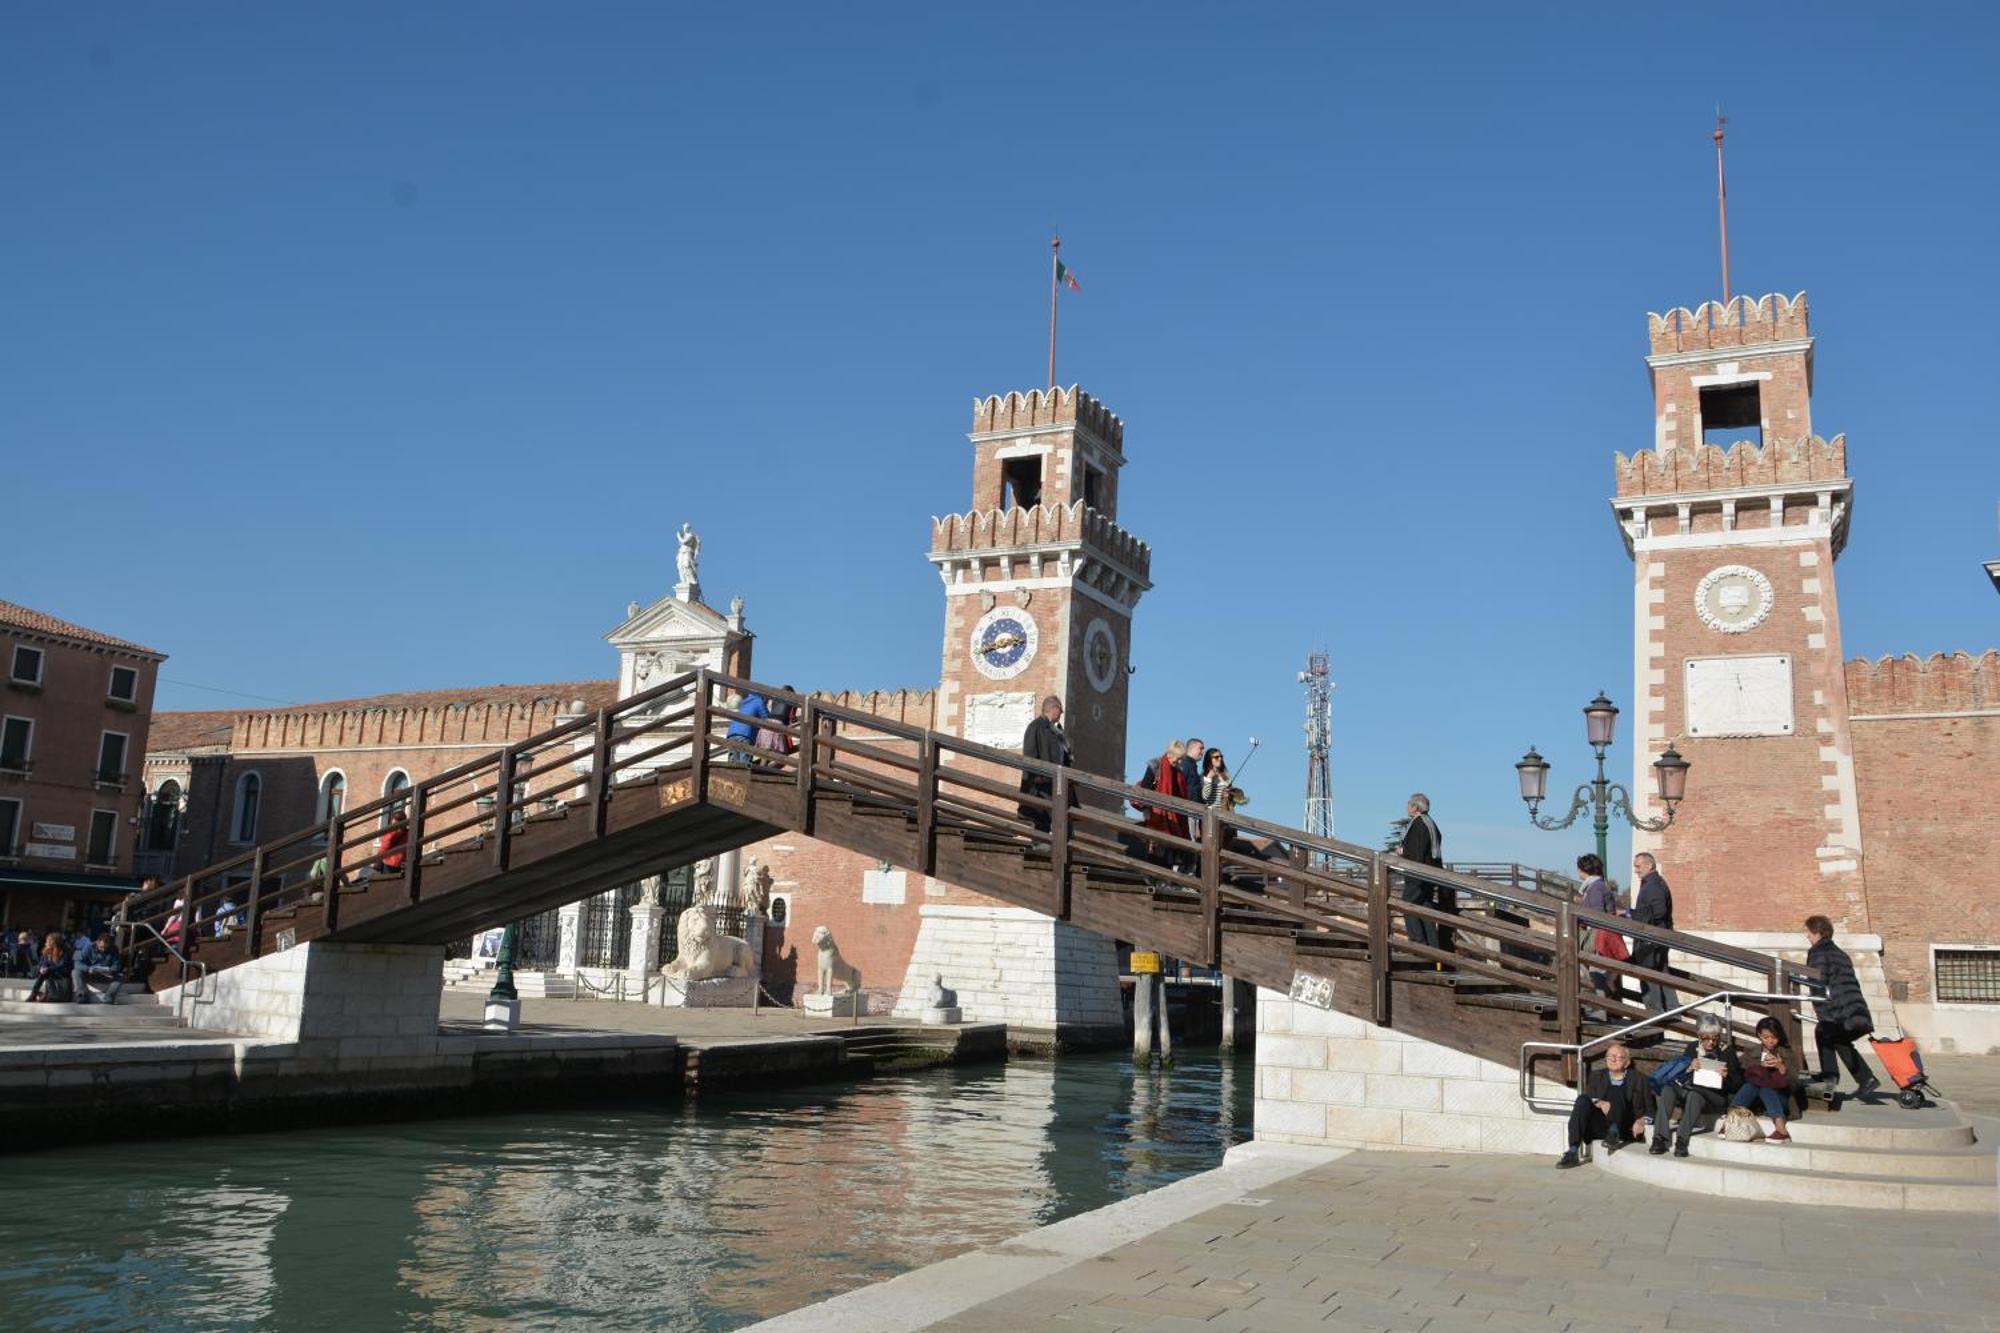
[[1648,767],[1668,743],[1694,769],[1672,827],[1634,847],[1660,857],[1682,929],[1796,953],[1824,913],[1884,1027],[2000,1045],[1978,865],[1996,658],[1844,660],[1854,482],[1846,438],[1812,432],[1804,292],[1654,314],[1650,342],[1654,448],[1618,456],[1612,498],[1634,560],[1634,813],[1660,815]]

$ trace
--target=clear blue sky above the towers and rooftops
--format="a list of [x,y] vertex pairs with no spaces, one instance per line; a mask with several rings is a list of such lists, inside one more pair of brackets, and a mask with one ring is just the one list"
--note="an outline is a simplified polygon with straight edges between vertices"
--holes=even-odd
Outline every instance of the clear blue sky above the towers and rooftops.
[[[1384,12],[1388,10],[1388,12]],[[608,675],[704,534],[760,675],[930,685],[968,404],[1126,420],[1132,757],[1266,753],[1338,829],[1562,865],[1630,693],[1612,452],[1646,310],[1810,290],[1850,656],[1986,648],[1986,8],[0,6],[0,596],[160,707]],[[208,687],[208,689],[196,689]],[[236,691],[234,695],[216,691]],[[1620,767],[1624,767],[1620,751]],[[1692,779],[1700,787],[1700,773]]]

